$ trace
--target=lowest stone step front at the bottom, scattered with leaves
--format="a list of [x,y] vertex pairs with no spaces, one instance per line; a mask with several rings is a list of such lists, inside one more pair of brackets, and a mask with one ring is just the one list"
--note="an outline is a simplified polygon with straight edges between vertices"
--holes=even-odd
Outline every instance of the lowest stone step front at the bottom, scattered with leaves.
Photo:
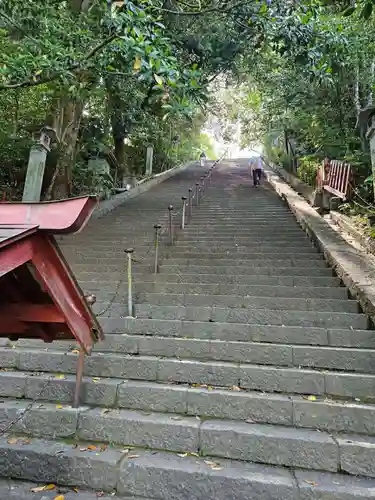
[[[204,500],[227,500],[234,491],[236,500],[299,500],[323,497],[339,500],[344,496],[348,500],[374,498],[374,480],[354,478],[346,474],[286,470],[225,459],[210,460],[209,457],[144,450],[132,450],[131,454],[124,454],[123,450],[114,448],[96,455],[93,452],[70,450],[64,443],[43,440],[36,440],[35,445],[37,451],[33,456],[34,462],[50,462],[52,472],[49,473],[47,468],[41,469],[42,474],[37,467],[34,467],[34,470],[26,469],[27,480],[33,480],[34,483],[11,481],[10,484],[16,487],[16,496],[8,495],[5,489],[7,495],[4,500],[28,500],[29,492],[23,497],[19,488],[22,493],[22,490],[30,490],[35,484],[41,484],[42,480],[43,484],[49,483],[54,473],[55,480],[58,479],[61,486],[73,481],[78,487],[106,490],[109,496],[104,495],[103,500],[124,498],[123,494],[127,500],[160,500],[160,492],[163,492],[163,500],[201,500],[203,484],[210,485],[205,489]],[[22,455],[24,449],[19,446],[18,450]],[[58,467],[56,451],[61,451],[58,455],[66,464],[63,469]],[[13,467],[12,475],[15,476],[21,456],[17,457],[16,447],[9,450],[8,455],[12,460],[9,469]],[[129,458],[136,455],[138,457]],[[82,470],[85,474],[81,474]],[[106,477],[103,477],[103,470],[107,472]],[[178,481],[172,483],[171,477],[177,477]],[[3,484],[4,481],[1,481],[0,492],[4,489]],[[117,496],[113,495],[114,492]],[[48,492],[43,492],[41,497],[35,498],[40,500],[44,495],[49,498]],[[95,497],[89,493],[88,495],[79,491],[70,497],[68,493],[65,500],[94,500]],[[51,494],[51,498],[54,498],[54,495]]]

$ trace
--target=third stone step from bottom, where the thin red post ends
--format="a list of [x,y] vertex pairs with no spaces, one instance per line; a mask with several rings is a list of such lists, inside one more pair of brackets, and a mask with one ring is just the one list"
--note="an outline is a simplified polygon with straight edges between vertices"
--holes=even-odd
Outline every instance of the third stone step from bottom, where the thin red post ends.
[[[6,372],[0,376],[1,403],[70,405],[75,377],[51,378],[40,373]],[[44,389],[44,392],[43,392]],[[0,409],[1,409],[0,403]],[[375,405],[353,399],[297,396],[201,384],[84,377],[81,404],[85,407],[170,413],[184,417],[250,420],[296,428],[375,435]],[[1,419],[0,419],[1,421]]]

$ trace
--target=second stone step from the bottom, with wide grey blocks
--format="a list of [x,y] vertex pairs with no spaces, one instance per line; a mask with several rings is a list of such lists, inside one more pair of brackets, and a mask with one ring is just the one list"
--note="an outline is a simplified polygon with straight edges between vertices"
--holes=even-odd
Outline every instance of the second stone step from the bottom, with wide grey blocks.
[[[102,451],[100,445],[110,443],[309,470],[341,470],[353,475],[375,477],[375,438],[368,436],[338,434],[331,437],[324,431],[274,424],[204,421],[196,417],[135,410],[74,409],[49,403],[30,408],[30,403],[9,400],[0,403],[2,428],[8,428],[13,423],[8,439],[0,438],[0,454],[5,457],[5,461],[0,463],[2,476],[16,477],[9,467],[19,468],[14,459],[20,448],[23,447],[22,452],[26,456],[28,449],[35,453],[36,438],[43,438],[43,441],[77,440],[80,451],[82,443],[98,443],[93,447],[98,450],[96,453],[99,456],[106,451]],[[14,435],[17,437],[13,438]],[[25,444],[25,439],[19,436],[26,439],[32,436],[33,439]],[[72,450],[72,445],[69,446]],[[95,456],[98,456],[96,453]],[[27,475],[23,478],[34,479]]]

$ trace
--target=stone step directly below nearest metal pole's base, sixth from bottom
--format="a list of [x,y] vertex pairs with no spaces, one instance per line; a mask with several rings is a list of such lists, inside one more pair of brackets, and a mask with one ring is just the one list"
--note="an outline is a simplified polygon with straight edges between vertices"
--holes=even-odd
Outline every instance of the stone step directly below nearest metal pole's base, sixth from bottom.
[[126,334],[135,335],[375,349],[375,332],[373,330],[354,330],[350,327],[324,329],[319,327],[109,317],[99,318],[99,321],[108,334],[124,335],[126,332]]

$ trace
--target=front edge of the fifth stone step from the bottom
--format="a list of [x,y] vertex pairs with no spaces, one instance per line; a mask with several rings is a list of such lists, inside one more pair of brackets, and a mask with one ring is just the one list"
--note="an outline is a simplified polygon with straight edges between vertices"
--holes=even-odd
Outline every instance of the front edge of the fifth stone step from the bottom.
[[[110,337],[107,340],[111,340]],[[201,363],[229,363],[243,365],[259,365],[264,367],[277,368],[303,368],[315,371],[327,370],[336,373],[352,373],[374,375],[371,360],[368,368],[364,368],[365,360],[370,357],[375,358],[375,349],[360,347],[336,347],[321,345],[298,345],[272,342],[244,342],[212,339],[185,339],[176,337],[163,337],[158,335],[120,335],[119,339],[113,339],[114,343],[107,349],[93,350],[92,355],[98,357],[106,356],[134,356],[153,357],[162,359],[178,359],[181,361],[196,361]],[[103,341],[105,342],[105,341]],[[24,350],[30,353],[51,353],[56,354],[78,354],[77,344],[60,341],[52,348],[42,347],[42,344],[27,344],[9,342],[4,349],[16,350],[22,353]],[[233,348],[233,351],[230,349]],[[183,352],[184,349],[186,352]],[[241,350],[256,350],[253,355],[244,359]],[[1,352],[1,351],[0,351]],[[335,360],[335,355],[339,355]],[[355,359],[356,355],[359,360]],[[246,355],[245,355],[246,356]],[[345,356],[351,358],[350,364],[341,366]],[[331,357],[333,361],[331,361]],[[237,359],[236,359],[237,358]],[[255,359],[256,358],[256,361]],[[336,365],[336,366],[335,366]],[[350,365],[350,367],[349,367]]]

